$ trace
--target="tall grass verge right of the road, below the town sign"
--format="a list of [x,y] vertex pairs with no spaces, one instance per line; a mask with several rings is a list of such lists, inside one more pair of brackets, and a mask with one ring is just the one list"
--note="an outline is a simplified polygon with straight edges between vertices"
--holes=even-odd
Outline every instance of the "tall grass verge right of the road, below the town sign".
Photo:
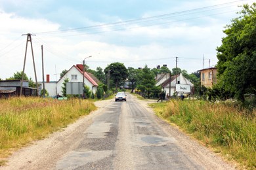
[[187,133],[221,152],[240,165],[256,168],[256,110],[246,110],[230,103],[171,100],[151,104],[158,116],[176,124]]

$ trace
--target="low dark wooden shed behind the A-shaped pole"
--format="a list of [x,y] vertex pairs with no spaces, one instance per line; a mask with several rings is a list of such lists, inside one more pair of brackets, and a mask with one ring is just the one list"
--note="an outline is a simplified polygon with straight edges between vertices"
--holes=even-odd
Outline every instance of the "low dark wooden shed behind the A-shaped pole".
[[[0,97],[19,96],[21,88],[21,80],[3,80],[0,81]],[[37,89],[28,86],[28,80],[23,80],[22,95],[36,96]]]

